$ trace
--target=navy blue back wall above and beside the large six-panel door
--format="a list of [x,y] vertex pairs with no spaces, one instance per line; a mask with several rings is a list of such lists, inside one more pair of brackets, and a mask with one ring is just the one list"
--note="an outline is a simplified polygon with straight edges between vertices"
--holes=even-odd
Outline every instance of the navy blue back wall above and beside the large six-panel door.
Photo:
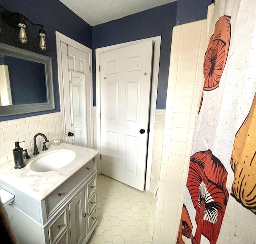
[[161,53],[156,107],[159,109],[165,108],[172,28],[176,23],[176,10],[177,2],[172,2],[92,27],[92,48],[94,59],[94,106],[96,106],[95,49],[161,35]]

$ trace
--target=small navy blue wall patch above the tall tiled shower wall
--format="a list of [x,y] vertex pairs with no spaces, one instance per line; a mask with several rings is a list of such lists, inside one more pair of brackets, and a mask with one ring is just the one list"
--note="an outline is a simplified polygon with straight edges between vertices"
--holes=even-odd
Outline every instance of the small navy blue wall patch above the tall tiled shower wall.
[[178,0],[176,25],[207,19],[212,0]]

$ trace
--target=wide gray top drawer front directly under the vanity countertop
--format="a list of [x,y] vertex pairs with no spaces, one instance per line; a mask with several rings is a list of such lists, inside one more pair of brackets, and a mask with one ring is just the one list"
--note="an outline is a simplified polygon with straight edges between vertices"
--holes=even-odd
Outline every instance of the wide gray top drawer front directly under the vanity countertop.
[[58,203],[60,203],[67,195],[76,187],[82,179],[89,175],[94,170],[93,159],[90,160],[86,165],[79,169],[74,175],[57,187],[52,193],[50,193],[46,199],[47,216],[54,209]]

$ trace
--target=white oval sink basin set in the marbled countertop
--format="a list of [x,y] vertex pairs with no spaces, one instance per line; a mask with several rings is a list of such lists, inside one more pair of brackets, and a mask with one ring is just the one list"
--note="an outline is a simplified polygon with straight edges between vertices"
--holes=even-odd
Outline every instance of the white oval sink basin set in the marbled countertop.
[[36,172],[46,172],[60,169],[73,161],[76,153],[71,150],[61,149],[44,153],[31,163],[30,169]]

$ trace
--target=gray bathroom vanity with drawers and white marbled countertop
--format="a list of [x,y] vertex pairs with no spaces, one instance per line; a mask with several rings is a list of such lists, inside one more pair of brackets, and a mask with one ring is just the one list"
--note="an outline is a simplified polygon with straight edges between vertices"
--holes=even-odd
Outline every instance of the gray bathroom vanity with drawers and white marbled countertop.
[[[36,172],[30,165],[58,150],[72,151],[74,159],[56,170]],[[0,188],[12,193],[6,206],[18,241],[26,244],[86,243],[97,225],[97,150],[61,143],[26,159],[26,167],[14,162],[0,167]],[[57,163],[57,162],[56,162]]]

